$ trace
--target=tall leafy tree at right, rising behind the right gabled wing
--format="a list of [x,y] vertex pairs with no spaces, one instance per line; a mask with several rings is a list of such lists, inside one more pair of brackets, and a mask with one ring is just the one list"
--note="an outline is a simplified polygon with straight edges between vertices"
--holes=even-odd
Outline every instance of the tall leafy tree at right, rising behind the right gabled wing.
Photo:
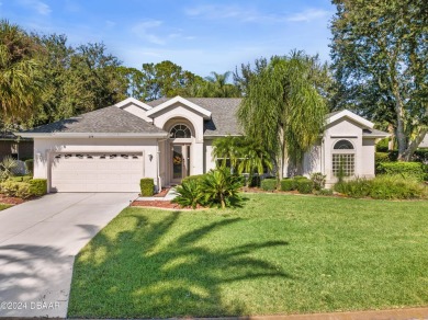
[[331,57],[338,103],[393,128],[409,160],[428,129],[425,0],[334,0]]

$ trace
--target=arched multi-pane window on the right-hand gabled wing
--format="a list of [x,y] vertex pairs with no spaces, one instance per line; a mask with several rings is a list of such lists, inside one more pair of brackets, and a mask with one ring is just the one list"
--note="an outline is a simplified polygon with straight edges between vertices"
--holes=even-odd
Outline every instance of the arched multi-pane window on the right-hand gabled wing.
[[356,150],[349,140],[339,140],[333,148],[333,174],[352,176],[356,173]]

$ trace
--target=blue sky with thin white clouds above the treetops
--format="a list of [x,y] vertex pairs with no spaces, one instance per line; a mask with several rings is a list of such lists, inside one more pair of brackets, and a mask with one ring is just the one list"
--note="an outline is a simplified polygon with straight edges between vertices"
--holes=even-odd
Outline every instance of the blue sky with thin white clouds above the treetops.
[[330,0],[0,0],[29,32],[104,43],[124,66],[171,60],[201,77],[293,49],[329,61]]

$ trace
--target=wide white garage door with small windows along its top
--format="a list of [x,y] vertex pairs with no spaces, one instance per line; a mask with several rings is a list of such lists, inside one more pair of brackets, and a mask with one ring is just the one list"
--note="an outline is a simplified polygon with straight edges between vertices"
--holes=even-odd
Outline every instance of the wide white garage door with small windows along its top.
[[139,192],[142,152],[55,153],[53,192]]

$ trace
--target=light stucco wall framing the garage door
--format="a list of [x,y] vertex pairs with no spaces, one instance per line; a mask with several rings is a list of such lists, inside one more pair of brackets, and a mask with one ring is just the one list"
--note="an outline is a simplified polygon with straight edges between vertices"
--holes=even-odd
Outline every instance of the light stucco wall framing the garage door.
[[157,150],[158,142],[156,139],[35,138],[34,178],[50,181],[52,155],[55,152],[143,152],[144,176],[153,178],[155,185],[157,185]]

